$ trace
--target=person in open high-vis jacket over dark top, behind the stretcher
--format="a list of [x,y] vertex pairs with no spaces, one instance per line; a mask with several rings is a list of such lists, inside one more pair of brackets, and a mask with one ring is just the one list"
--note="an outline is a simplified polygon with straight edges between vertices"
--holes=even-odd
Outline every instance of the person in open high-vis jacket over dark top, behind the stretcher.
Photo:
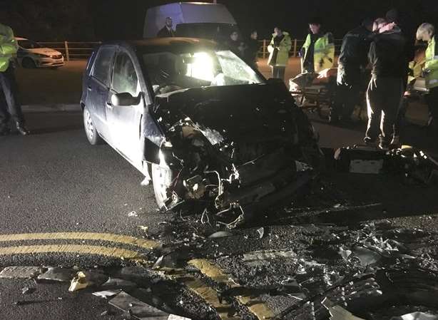
[[332,68],[335,62],[335,43],[332,33],[322,33],[320,19],[312,19],[300,56],[302,72],[319,73]]

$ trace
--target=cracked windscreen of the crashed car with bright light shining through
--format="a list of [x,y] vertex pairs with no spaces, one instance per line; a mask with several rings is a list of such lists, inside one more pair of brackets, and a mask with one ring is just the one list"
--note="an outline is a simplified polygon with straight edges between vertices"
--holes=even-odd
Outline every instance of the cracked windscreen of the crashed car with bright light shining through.
[[146,53],[143,63],[156,94],[185,88],[264,83],[248,64],[229,50]]

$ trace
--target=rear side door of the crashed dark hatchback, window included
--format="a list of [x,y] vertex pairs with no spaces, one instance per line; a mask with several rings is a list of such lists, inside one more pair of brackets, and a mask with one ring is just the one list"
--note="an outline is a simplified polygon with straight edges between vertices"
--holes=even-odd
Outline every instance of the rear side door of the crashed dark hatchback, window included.
[[113,59],[116,54],[116,46],[102,46],[91,69],[90,79],[86,90],[87,100],[85,104],[91,108],[93,123],[96,125],[98,133],[108,141],[113,143],[111,130],[108,126],[107,105],[110,91],[111,76],[113,71]]

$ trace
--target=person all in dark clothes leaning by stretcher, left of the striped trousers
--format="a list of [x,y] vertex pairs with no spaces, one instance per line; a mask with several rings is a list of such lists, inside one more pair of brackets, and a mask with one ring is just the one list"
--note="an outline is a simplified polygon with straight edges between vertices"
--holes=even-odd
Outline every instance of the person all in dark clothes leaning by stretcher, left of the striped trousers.
[[330,123],[336,123],[340,117],[343,121],[349,121],[355,105],[360,103],[372,23],[372,19],[364,20],[361,26],[349,31],[342,39],[337,68],[337,101],[330,110]]

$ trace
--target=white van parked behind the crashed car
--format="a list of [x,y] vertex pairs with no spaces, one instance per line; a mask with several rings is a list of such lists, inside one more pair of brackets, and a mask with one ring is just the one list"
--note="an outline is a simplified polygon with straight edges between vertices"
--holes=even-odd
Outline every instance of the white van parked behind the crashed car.
[[237,29],[233,15],[223,4],[178,2],[148,9],[143,38],[155,38],[163,28],[166,17],[172,18],[176,36],[228,38]]

